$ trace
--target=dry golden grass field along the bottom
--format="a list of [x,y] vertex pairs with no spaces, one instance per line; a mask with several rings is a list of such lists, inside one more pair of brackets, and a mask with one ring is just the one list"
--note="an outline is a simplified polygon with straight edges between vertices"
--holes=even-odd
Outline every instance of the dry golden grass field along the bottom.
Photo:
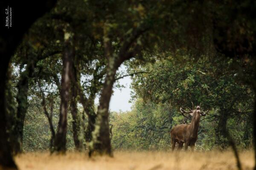
[[[243,170],[254,165],[252,151],[240,152]],[[24,153],[15,157],[20,170],[236,170],[231,151],[207,152],[128,152],[116,151],[114,157],[96,156],[89,159],[84,153],[50,155]]]

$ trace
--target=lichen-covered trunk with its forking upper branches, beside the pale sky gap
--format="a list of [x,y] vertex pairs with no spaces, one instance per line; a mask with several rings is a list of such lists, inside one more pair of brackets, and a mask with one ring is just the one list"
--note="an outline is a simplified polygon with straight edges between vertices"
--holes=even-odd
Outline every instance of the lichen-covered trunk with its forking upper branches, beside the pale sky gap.
[[[105,82],[99,99],[95,129],[92,133],[93,140],[89,144],[89,156],[91,156],[93,152],[97,152],[101,155],[107,154],[109,156],[113,156],[109,131],[108,109],[112,95],[113,84],[115,82],[116,71],[125,60],[134,57],[137,52],[140,51],[140,45],[134,42],[147,29],[148,28],[144,28],[144,26],[134,29],[131,33],[131,37],[127,38],[127,40],[123,42],[118,54],[113,54],[114,51],[112,48],[112,41],[108,35],[108,21],[105,22],[103,28],[103,41],[104,56],[108,59],[108,64],[106,67],[107,75],[105,77]],[[134,48],[130,50],[132,45],[134,45]]]

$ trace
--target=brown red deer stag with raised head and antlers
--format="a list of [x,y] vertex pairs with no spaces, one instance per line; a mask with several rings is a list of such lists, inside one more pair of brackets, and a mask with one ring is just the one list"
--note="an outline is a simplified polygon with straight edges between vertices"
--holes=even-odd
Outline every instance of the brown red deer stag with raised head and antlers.
[[[192,109],[194,108],[194,104],[192,102]],[[188,149],[188,147],[191,147],[191,150],[194,150],[195,142],[198,139],[198,127],[199,127],[199,121],[200,121],[200,115],[205,116],[206,113],[204,111],[201,111],[200,105],[196,107],[196,109],[190,111],[185,111],[183,108],[180,107],[180,112],[183,116],[184,113],[189,113],[192,116],[191,123],[188,125],[181,124],[176,125],[171,130],[171,138],[172,138],[172,150],[175,148],[175,144],[177,143],[178,150],[181,150],[183,147],[183,143],[185,143],[185,150]],[[188,116],[185,116],[186,118],[189,118]]]

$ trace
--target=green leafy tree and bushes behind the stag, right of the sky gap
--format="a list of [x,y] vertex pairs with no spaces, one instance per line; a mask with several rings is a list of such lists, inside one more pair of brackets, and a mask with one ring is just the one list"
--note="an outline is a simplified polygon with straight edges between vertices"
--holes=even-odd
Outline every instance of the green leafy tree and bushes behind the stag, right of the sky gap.
[[168,57],[143,67],[133,65],[131,72],[146,73],[133,77],[134,109],[111,114],[113,147],[168,149],[171,128],[183,123],[179,108],[190,107],[191,101],[209,110],[206,117],[201,117],[197,149],[227,147],[222,133],[226,126],[239,148],[252,147],[253,124],[249,119],[253,94],[232,70],[233,60],[206,56],[198,61],[187,57],[181,60]]

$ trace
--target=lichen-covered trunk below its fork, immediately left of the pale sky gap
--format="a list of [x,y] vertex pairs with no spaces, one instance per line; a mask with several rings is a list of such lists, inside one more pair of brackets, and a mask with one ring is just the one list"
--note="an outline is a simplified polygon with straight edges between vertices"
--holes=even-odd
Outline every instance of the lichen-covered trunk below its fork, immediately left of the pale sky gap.
[[93,143],[90,145],[89,156],[96,151],[99,154],[112,156],[111,141],[109,133],[108,109],[112,95],[113,83],[115,82],[116,68],[109,61],[107,76],[99,99],[99,107],[96,118],[95,130],[93,131]]

